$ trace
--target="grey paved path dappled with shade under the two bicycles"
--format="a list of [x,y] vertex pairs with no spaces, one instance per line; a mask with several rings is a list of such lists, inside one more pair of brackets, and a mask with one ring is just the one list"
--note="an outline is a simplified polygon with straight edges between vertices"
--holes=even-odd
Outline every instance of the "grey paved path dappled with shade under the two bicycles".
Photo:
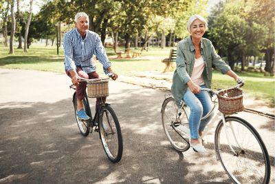
[[[113,164],[98,134],[81,136],[65,74],[0,69],[0,83],[0,183],[231,183],[212,141],[206,156],[168,143],[160,117],[164,91],[110,82],[108,102],[124,139],[122,160]],[[274,120],[240,116],[263,136],[274,183]]]

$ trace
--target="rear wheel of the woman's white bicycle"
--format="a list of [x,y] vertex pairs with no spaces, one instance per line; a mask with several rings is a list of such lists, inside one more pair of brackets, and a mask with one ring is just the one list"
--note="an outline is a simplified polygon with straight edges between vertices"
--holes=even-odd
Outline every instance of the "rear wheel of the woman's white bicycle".
[[[164,100],[162,104],[162,125],[164,127],[164,132],[173,147],[179,152],[185,152],[190,148],[188,142],[188,134],[179,133],[175,130],[176,126],[188,125],[188,118],[183,110],[181,110],[180,119],[177,118],[179,113],[177,113],[177,105],[173,97],[169,97]],[[189,127],[188,127],[189,129]]]

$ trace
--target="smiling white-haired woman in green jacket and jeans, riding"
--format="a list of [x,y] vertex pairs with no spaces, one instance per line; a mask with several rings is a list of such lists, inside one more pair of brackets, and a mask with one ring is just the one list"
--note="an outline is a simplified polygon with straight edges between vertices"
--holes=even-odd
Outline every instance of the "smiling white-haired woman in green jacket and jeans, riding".
[[222,74],[228,74],[236,82],[241,80],[219,57],[212,42],[203,38],[207,25],[206,19],[198,14],[190,17],[187,23],[190,36],[179,41],[177,45],[177,70],[174,72],[171,87],[177,105],[183,100],[190,108],[190,146],[200,154],[206,153],[200,136],[211,119],[209,116],[201,121],[201,116],[212,108],[210,95],[200,89],[210,88],[212,67],[221,70]]

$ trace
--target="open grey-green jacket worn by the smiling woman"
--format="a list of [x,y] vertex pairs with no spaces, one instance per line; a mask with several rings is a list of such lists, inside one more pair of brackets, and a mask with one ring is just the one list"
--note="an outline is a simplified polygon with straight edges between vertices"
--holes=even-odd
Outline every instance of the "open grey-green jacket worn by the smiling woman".
[[[202,74],[203,81],[206,88],[211,88],[212,67],[221,70],[221,73],[225,74],[230,70],[230,66],[219,57],[214,50],[212,42],[205,38],[201,40],[201,57],[206,64]],[[191,37],[187,37],[177,44],[176,63],[177,70],[175,70],[173,75],[171,92],[175,98],[176,104],[179,105],[188,88],[187,82],[191,79],[195,63],[195,47],[192,44]]]

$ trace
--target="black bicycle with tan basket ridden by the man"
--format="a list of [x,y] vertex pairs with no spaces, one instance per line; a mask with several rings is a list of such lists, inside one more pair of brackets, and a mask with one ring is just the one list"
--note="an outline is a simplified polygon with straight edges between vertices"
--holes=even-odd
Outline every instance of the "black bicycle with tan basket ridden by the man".
[[[102,97],[109,96],[108,82],[112,74],[108,75],[109,77],[105,79],[78,79],[80,82],[87,82],[88,95],[87,92],[85,92],[83,105],[86,114],[90,117],[88,120],[78,118],[76,87],[75,85],[70,85],[69,88],[74,90],[74,112],[80,133],[83,136],[88,136],[89,133],[93,132],[93,129],[95,132],[98,132],[104,152],[107,154],[108,159],[113,163],[118,163],[122,158],[123,152],[120,123],[115,112],[111,108],[111,105],[109,103],[104,103],[102,100]],[[96,105],[94,119],[92,118],[93,116],[91,114],[88,97],[100,99],[99,104]]]

